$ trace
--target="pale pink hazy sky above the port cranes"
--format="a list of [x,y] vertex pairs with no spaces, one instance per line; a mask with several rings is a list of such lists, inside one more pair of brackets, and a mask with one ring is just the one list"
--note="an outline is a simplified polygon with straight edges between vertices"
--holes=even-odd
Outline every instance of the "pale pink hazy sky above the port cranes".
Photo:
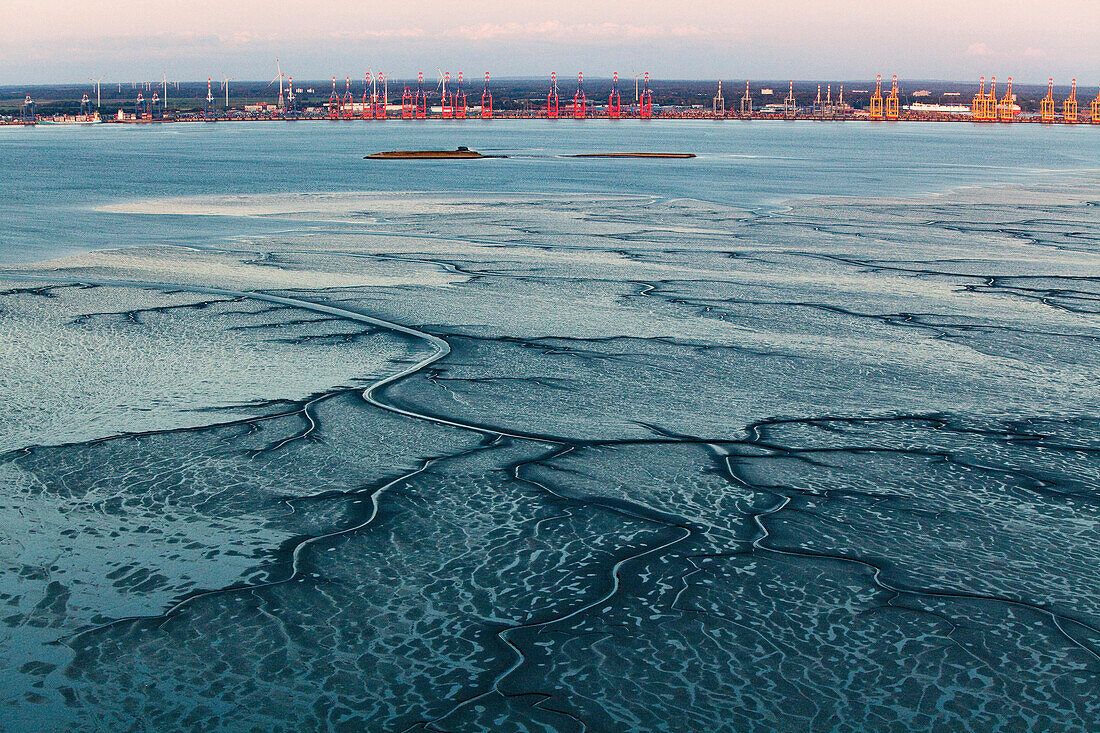
[[0,0],[0,85],[206,77],[1100,83],[1100,0]]

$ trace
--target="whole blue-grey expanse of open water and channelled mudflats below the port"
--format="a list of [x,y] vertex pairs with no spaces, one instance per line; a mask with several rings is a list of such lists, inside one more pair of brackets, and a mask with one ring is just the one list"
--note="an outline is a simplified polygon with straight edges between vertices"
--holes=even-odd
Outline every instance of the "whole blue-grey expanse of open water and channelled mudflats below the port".
[[[469,145],[484,161],[365,161]],[[571,158],[692,152],[693,160]],[[1100,729],[1100,128],[0,128],[0,730]]]

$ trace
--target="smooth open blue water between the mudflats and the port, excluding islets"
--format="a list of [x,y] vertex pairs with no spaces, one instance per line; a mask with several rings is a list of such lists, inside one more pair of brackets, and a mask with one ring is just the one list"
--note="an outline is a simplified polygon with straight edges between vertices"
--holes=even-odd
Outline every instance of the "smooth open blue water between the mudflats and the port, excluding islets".
[[[904,196],[1100,167],[1094,128],[595,120],[271,122],[0,128],[0,262],[148,242],[205,242],[233,225],[94,215],[105,203],[287,192],[585,192],[768,206],[798,196]],[[385,150],[514,155],[477,167],[362,161]],[[692,152],[690,163],[562,160]]]

